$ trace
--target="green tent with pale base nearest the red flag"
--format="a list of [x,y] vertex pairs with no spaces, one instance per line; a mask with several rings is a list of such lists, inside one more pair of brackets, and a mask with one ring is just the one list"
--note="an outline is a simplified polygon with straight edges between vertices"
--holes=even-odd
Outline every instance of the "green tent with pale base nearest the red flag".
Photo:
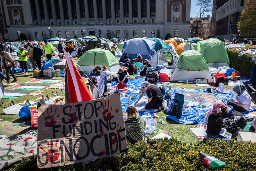
[[79,59],[78,71],[84,71],[88,76],[96,66],[108,66],[111,73],[118,73],[120,65],[117,58],[109,51],[100,48],[86,51]]

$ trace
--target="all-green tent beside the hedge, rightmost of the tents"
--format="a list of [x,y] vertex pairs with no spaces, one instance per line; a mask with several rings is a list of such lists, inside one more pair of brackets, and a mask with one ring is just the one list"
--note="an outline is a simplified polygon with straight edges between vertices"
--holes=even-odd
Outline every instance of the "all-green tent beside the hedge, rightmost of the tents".
[[220,66],[229,66],[230,64],[227,50],[219,39],[210,38],[198,41],[197,51],[203,55],[209,67],[218,68]]

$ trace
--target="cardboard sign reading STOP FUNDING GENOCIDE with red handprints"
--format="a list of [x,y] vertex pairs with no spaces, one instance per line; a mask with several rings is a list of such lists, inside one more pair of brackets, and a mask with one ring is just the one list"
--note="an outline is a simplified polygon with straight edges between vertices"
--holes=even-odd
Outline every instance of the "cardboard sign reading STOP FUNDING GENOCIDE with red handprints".
[[38,109],[39,168],[89,162],[126,151],[119,93],[106,100],[42,105]]

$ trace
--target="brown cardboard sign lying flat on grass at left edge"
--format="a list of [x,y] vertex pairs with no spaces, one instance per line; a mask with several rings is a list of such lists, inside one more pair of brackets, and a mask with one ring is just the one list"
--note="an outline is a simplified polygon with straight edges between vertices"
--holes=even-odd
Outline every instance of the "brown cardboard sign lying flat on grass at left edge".
[[12,123],[12,122],[0,122],[0,135],[10,136],[12,134],[18,134],[19,132],[30,128],[29,125]]

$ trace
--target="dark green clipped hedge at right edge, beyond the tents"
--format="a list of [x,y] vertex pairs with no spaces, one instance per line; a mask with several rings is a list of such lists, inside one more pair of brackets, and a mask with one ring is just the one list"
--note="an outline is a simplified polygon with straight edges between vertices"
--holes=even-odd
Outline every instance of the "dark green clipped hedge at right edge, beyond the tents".
[[250,77],[252,67],[254,63],[252,62],[253,54],[245,54],[242,56],[241,60],[238,59],[238,54],[240,51],[235,49],[227,49],[230,67],[239,71],[242,76]]

